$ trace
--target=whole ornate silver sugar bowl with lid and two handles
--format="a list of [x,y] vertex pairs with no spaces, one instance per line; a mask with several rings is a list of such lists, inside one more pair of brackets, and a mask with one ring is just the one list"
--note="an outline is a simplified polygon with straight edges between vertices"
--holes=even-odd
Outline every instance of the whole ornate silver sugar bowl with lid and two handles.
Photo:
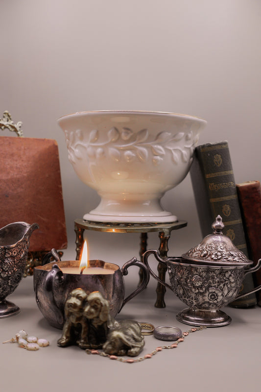
[[[190,325],[218,327],[230,324],[231,318],[220,308],[242,296],[238,296],[244,276],[255,272],[261,266],[261,259],[255,267],[253,262],[222,234],[224,224],[220,216],[214,221],[213,234],[182,257],[162,259],[157,250],[148,250],[143,261],[150,274],[160,283],[172,290],[189,308],[184,309],[176,318]],[[167,266],[170,285],[163,282],[149,267],[148,256],[154,254],[158,262]]]

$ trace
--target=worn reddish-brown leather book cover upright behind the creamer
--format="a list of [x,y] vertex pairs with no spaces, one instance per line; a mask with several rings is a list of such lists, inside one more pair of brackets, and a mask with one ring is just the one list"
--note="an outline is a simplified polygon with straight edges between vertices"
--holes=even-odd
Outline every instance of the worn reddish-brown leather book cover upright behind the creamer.
[[38,223],[30,251],[67,247],[58,146],[55,140],[0,137],[0,227]]

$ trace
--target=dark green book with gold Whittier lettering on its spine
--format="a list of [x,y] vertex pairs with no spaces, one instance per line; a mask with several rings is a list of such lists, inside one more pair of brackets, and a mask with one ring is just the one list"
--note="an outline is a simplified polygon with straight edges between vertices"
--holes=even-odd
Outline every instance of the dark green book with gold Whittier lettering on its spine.
[[[202,236],[211,234],[211,225],[216,216],[220,215],[225,225],[223,234],[249,257],[228,143],[208,143],[196,147],[190,177]],[[248,274],[244,278],[240,294],[253,288],[253,278]],[[248,308],[256,303],[255,294],[250,294],[230,305]]]

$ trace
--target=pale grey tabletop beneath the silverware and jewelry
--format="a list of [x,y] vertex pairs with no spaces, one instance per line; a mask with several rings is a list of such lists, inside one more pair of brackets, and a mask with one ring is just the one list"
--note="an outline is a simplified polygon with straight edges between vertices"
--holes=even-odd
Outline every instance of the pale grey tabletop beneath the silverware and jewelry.
[[[135,279],[126,284],[134,290]],[[156,309],[156,282],[127,303],[117,319],[147,321],[155,326],[175,325],[183,332],[175,315],[186,307],[173,293],[166,293],[166,308]],[[0,319],[0,342],[20,329],[46,338],[50,345],[32,352],[15,343],[0,345],[0,390],[9,391],[255,391],[260,389],[261,308],[223,309],[232,318],[225,327],[191,333],[183,343],[162,350],[151,359],[125,364],[97,355],[87,355],[76,346],[56,345],[61,330],[47,324],[37,307],[33,277],[22,280],[9,295],[21,312]],[[142,355],[165,344],[145,336]]]

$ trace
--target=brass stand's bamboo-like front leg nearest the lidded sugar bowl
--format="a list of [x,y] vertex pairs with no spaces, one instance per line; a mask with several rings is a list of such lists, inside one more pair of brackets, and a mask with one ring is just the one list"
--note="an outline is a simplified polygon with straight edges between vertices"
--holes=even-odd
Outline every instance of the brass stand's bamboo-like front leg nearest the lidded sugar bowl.
[[[168,251],[168,246],[167,246],[167,242],[169,239],[169,235],[165,235],[164,232],[160,232],[159,233],[159,237],[160,237],[160,247],[159,247],[159,252],[160,252],[160,256],[161,258],[166,258],[167,257],[167,251]],[[158,272],[159,272],[159,278],[165,282],[165,277],[166,277],[166,266],[163,265],[162,263],[158,264]],[[165,286],[163,286],[161,283],[158,283],[157,285],[157,289],[156,289],[156,293],[157,293],[157,300],[155,303],[155,307],[156,308],[165,308],[166,304],[164,301],[164,295],[166,293],[166,288]]]

